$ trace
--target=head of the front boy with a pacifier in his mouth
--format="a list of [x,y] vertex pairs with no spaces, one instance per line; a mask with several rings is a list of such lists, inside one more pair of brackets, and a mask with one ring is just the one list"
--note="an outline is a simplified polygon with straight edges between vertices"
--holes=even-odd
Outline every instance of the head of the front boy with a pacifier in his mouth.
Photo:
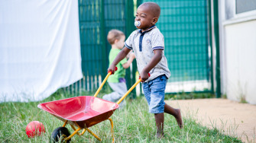
[[135,21],[140,21],[139,29],[147,30],[147,28],[157,23],[160,17],[160,6],[154,2],[144,2],[141,4],[136,13]]

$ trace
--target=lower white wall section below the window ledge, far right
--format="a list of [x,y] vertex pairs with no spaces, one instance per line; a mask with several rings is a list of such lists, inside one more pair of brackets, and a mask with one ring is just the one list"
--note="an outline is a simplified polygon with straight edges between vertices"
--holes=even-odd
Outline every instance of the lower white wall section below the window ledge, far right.
[[224,26],[226,94],[256,104],[256,20]]

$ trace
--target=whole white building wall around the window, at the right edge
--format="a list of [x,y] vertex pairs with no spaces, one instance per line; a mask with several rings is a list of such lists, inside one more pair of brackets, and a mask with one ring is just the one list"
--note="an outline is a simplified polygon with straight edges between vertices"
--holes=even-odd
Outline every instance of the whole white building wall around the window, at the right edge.
[[256,10],[236,14],[235,1],[219,1],[222,94],[256,104]]

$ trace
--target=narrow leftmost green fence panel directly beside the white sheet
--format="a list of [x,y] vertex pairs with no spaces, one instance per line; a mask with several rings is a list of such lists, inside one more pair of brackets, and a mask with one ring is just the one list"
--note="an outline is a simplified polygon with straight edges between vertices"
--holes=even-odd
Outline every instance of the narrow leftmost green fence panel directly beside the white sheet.
[[79,27],[82,56],[83,80],[81,87],[86,90],[98,86],[102,75],[102,27],[100,1],[79,1]]

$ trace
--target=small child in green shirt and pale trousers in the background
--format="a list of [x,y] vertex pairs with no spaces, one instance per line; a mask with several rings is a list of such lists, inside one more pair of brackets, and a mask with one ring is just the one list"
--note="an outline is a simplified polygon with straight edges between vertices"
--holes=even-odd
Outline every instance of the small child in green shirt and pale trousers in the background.
[[[109,52],[109,65],[112,64],[118,52],[125,46],[125,34],[120,30],[110,30],[107,37],[112,49]],[[131,62],[135,58],[134,53],[130,54],[130,58],[122,59],[116,67],[115,75],[111,75],[108,78],[109,86],[112,88],[113,92],[111,94],[106,94],[102,97],[104,100],[109,100],[115,102],[119,100],[127,91],[127,86],[125,84],[125,68],[131,65]],[[120,107],[125,106],[124,101],[120,103]]]

